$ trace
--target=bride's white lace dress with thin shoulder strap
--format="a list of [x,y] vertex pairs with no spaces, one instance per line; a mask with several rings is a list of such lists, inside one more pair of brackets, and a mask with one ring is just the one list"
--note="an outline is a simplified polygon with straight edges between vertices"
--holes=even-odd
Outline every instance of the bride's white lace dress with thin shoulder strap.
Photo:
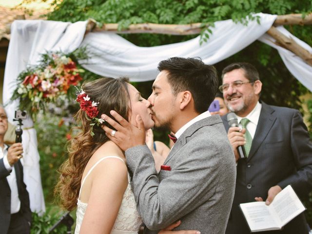
[[[77,202],[77,218],[76,218],[75,234],[79,234],[83,216],[86,212],[87,205],[88,205],[87,203],[83,203],[79,200],[81,188],[86,178],[90,175],[91,171],[98,165],[98,163],[100,163],[105,158],[118,158],[121,161],[123,161],[118,156],[103,157],[100,160],[98,160],[97,163],[95,163],[95,165],[90,169],[88,174],[84,177],[80,186],[79,197],[78,197],[78,202]],[[121,206],[119,208],[118,215],[117,215],[111,234],[137,234],[137,232],[139,231],[142,225],[142,219],[137,213],[137,208],[136,208],[137,205],[136,205],[135,197],[131,190],[129,174],[128,174],[128,181],[129,181],[128,186],[123,195]],[[103,220],[103,222],[105,222],[105,220]]]

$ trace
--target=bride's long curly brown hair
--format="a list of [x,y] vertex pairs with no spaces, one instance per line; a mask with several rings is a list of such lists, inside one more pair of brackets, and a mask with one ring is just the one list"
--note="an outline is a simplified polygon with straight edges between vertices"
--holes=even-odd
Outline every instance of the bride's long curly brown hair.
[[[112,117],[109,112],[115,110],[128,120],[131,108],[128,83],[128,78],[99,78],[84,83],[82,90],[92,101],[98,102],[98,118],[101,114]],[[90,123],[92,120],[86,116],[83,110],[80,109],[77,112],[75,120],[79,126],[72,128],[71,134],[77,134],[68,143],[69,157],[59,168],[59,181],[54,191],[59,204],[69,211],[77,206],[82,173],[90,157],[109,140],[102,128],[96,124],[93,126],[95,135],[91,136]],[[108,125],[107,122],[103,124]],[[108,126],[112,128],[112,126]]]

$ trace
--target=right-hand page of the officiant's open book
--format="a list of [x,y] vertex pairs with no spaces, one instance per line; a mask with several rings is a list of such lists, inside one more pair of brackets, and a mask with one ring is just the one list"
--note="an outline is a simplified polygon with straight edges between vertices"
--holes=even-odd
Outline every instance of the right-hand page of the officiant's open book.
[[275,196],[270,207],[279,217],[282,226],[306,209],[290,185]]

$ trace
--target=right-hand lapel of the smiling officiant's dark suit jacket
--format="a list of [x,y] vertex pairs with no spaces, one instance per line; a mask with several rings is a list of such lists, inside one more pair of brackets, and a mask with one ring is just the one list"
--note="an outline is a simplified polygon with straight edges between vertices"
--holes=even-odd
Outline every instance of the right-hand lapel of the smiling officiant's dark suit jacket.
[[273,112],[274,110],[270,106],[262,102],[259,121],[254,134],[252,147],[250,149],[247,161],[249,161],[250,158],[254,156],[254,154],[257,152],[258,148],[262,144],[263,140],[270,132],[273,123],[276,120],[276,117],[273,115]]

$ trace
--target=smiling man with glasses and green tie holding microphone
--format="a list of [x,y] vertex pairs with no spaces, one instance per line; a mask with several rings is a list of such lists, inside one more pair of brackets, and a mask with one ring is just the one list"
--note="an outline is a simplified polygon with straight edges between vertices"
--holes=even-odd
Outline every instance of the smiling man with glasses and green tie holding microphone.
[[[292,185],[301,198],[312,190],[312,144],[297,110],[259,102],[262,83],[249,63],[233,63],[222,71],[219,87],[240,127],[230,127],[222,117],[234,149],[237,176],[234,202],[226,234],[249,234],[239,210],[240,203],[270,204],[283,188]],[[247,158],[238,159],[237,147],[244,145]],[[264,234],[308,234],[304,214],[295,217],[282,231]]]

